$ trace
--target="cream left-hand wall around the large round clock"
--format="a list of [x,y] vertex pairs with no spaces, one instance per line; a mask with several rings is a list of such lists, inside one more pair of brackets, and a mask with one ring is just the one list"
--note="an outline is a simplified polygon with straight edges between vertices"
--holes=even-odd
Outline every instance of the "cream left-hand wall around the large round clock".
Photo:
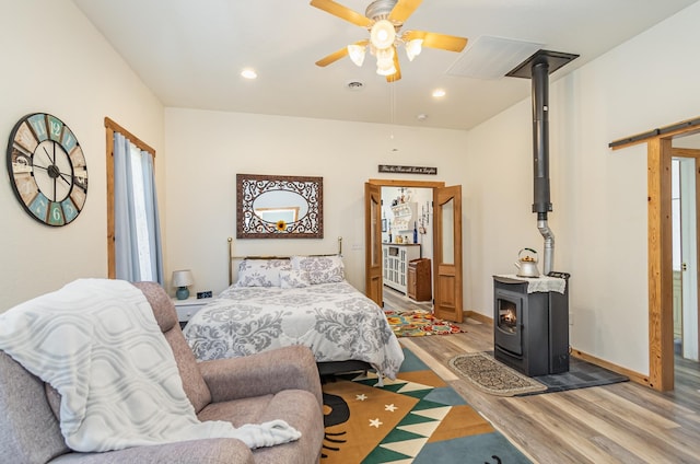
[[[0,182],[0,312],[79,277],[107,275],[104,117],[159,150],[163,107],[68,0],[0,0],[0,140],[30,113],[66,123],[88,162],[88,199],[70,224],[49,228]],[[5,142],[7,143],[7,142]],[[4,151],[3,151],[4,152]],[[165,156],[156,158],[162,177]]]

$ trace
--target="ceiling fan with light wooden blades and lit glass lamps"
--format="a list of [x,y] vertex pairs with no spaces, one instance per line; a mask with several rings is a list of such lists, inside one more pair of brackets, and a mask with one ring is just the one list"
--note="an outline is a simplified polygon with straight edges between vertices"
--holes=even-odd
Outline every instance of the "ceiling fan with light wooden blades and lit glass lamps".
[[376,72],[385,76],[387,82],[401,79],[396,47],[402,44],[410,61],[418,56],[422,47],[440,48],[448,51],[462,51],[467,39],[453,35],[436,34],[424,31],[399,31],[406,20],[416,11],[422,0],[375,0],[366,8],[364,15],[341,5],[332,0],[312,0],[311,5],[324,10],[370,32],[369,39],[358,40],[335,51],[318,61],[325,67],[350,56],[352,62],[362,66],[364,55],[370,53],[376,57]]

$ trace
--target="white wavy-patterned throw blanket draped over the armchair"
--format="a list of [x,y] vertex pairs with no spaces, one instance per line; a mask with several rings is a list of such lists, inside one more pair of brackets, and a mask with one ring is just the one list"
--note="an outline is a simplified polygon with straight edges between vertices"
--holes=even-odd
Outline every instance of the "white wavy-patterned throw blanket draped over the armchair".
[[0,349],[61,394],[75,451],[232,437],[249,448],[296,440],[283,420],[199,421],[145,297],[121,280],[80,279],[0,314]]

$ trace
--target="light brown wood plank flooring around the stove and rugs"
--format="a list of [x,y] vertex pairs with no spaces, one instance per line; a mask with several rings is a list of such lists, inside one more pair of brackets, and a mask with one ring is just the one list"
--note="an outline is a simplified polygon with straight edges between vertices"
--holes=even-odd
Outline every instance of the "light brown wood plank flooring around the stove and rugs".
[[[430,309],[392,290],[386,309]],[[677,364],[676,390],[658,393],[625,382],[524,397],[481,393],[447,361],[493,349],[493,327],[468,318],[467,332],[400,338],[469,405],[536,463],[700,463],[700,372]],[[504,463],[505,464],[505,463]]]

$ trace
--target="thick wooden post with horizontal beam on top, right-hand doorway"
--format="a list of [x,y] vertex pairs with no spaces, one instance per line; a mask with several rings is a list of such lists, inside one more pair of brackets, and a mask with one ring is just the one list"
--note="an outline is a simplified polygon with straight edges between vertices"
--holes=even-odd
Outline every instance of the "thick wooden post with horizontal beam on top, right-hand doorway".
[[674,295],[672,173],[673,139],[700,132],[698,119],[627,137],[609,147],[618,150],[646,143],[649,246],[649,378],[660,392],[674,390]]

